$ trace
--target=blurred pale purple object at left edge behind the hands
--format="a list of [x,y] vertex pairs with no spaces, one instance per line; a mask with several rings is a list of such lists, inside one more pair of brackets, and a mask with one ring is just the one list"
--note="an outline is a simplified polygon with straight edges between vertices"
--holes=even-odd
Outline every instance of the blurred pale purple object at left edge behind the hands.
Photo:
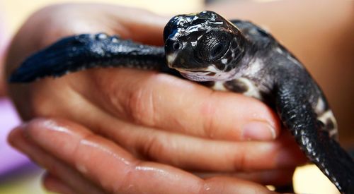
[[20,123],[21,119],[10,100],[0,98],[0,176],[29,164],[27,157],[14,150],[6,140],[11,129]]

